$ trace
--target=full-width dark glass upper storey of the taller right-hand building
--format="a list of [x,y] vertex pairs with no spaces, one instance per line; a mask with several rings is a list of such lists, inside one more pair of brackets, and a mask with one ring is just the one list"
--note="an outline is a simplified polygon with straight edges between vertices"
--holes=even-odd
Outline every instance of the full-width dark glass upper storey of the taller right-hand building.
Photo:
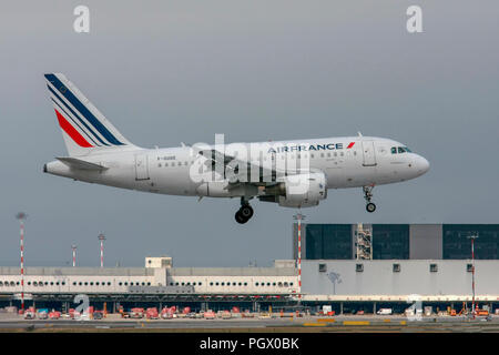
[[[374,260],[408,260],[410,248],[425,247],[430,257],[444,260],[471,258],[471,234],[475,241],[477,260],[499,260],[499,224],[432,224],[432,229],[413,229],[409,224],[365,224],[371,227]],[[356,245],[354,224],[304,224],[304,258],[308,260],[352,260]],[[294,251],[297,257],[297,230],[294,230]],[[413,242],[413,244],[410,244]],[[419,244],[418,244],[419,243]],[[425,245],[422,245],[425,244]],[[419,245],[419,246],[418,246]],[[422,246],[421,246],[422,245]],[[425,252],[425,251],[424,251]],[[420,255],[420,252],[418,255]],[[438,254],[438,256],[435,256]],[[421,258],[421,257],[416,257]]]

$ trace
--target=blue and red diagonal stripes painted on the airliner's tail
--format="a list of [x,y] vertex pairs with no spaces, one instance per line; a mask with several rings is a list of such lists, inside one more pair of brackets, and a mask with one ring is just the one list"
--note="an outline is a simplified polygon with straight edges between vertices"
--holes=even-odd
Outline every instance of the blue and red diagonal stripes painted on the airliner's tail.
[[80,146],[124,145],[57,74],[44,75],[61,129]]

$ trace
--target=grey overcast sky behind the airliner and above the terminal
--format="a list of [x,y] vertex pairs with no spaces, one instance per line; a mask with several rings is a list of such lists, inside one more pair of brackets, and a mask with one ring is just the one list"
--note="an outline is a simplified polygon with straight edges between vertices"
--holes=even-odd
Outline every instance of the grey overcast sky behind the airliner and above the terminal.
[[[90,33],[73,9],[90,8]],[[422,8],[424,33],[406,31]],[[387,136],[431,170],[375,189],[329,191],[303,212],[325,223],[498,223],[499,2],[9,1],[0,12],[0,265],[271,265],[292,257],[296,212],[236,200],[197,202],[42,173],[65,148],[44,72],[62,72],[138,145]]]

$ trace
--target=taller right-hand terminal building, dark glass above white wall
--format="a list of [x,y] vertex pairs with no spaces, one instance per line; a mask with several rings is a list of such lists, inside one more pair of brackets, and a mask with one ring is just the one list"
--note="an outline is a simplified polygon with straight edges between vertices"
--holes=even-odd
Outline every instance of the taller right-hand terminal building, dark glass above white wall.
[[[476,300],[499,307],[498,224],[303,224],[305,302],[370,307],[418,298],[445,308]],[[298,257],[297,226],[294,257]]]

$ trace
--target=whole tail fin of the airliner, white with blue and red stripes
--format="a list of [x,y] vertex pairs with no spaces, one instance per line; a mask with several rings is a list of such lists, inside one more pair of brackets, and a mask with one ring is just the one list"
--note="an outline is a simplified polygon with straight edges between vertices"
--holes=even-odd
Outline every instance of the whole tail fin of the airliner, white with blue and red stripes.
[[44,77],[70,156],[135,146],[63,74]]

